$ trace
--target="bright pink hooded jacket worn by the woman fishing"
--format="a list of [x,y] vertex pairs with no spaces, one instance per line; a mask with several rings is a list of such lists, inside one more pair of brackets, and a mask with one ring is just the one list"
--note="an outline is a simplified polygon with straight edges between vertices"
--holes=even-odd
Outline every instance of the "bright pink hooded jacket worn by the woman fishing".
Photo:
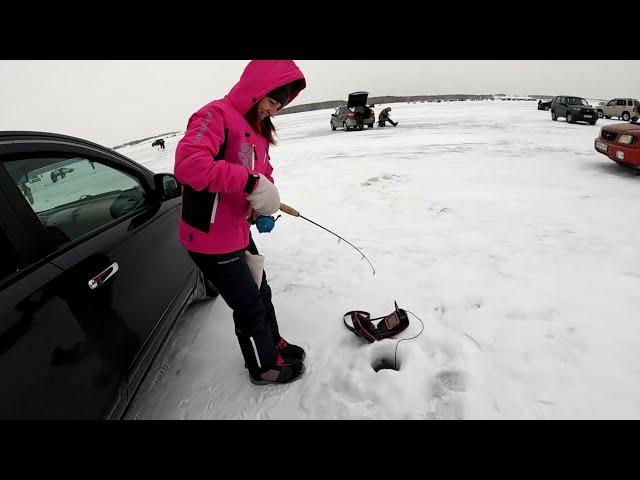
[[189,118],[174,167],[182,183],[178,237],[188,250],[219,254],[249,244],[248,180],[262,173],[273,182],[273,167],[269,143],[244,115],[271,90],[294,81],[285,105],[306,87],[300,69],[291,60],[253,60],[227,96]]

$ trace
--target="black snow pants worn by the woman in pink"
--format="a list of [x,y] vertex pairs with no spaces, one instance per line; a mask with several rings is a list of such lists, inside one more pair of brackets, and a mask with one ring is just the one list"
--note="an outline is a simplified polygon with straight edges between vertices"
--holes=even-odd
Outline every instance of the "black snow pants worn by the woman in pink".
[[247,265],[245,250],[258,255],[253,238],[245,249],[235,252],[216,255],[189,252],[189,255],[233,310],[242,356],[249,371],[256,375],[274,367],[280,332],[267,275],[262,272],[258,289]]

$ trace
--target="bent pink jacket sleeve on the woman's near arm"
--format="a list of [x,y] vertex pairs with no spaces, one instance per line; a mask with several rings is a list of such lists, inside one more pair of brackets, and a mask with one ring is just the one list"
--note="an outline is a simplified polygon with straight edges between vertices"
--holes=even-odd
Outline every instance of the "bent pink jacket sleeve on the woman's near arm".
[[249,170],[224,160],[214,160],[224,143],[224,121],[215,109],[201,109],[191,116],[187,131],[176,147],[174,174],[196,191],[242,192]]

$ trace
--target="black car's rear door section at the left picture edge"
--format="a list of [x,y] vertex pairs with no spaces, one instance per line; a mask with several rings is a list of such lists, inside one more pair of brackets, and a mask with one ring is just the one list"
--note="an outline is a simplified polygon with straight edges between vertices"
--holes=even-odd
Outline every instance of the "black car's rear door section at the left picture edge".
[[4,161],[0,201],[0,418],[109,417],[127,402],[125,377],[103,356],[113,347],[88,335],[100,320],[91,300],[48,258],[50,242]]

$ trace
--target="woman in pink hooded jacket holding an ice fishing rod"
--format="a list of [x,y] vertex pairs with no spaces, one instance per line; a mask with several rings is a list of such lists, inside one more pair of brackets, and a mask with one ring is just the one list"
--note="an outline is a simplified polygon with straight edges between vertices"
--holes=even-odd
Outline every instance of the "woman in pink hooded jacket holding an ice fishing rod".
[[180,242],[233,310],[249,378],[259,385],[287,383],[304,372],[304,350],[278,331],[247,217],[280,208],[269,161],[276,143],[271,117],[305,86],[291,60],[251,61],[227,96],[191,116],[176,149]]

